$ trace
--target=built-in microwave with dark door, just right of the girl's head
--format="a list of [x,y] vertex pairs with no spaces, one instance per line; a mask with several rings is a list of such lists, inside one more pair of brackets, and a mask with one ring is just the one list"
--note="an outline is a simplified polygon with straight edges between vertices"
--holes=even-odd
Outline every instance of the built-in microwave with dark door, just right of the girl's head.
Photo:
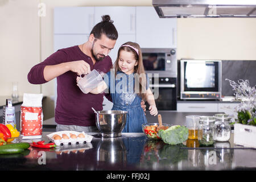
[[177,77],[176,48],[142,48],[146,73],[158,73],[159,77]]

